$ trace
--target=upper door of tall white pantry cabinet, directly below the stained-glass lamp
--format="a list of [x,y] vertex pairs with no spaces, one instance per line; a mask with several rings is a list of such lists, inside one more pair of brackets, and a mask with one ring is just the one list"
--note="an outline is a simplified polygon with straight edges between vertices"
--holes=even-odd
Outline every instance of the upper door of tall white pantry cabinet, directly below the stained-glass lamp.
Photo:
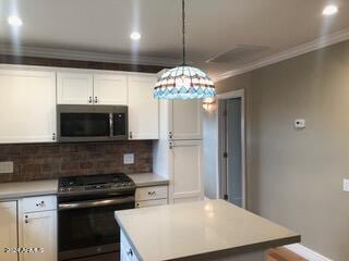
[[171,104],[172,139],[202,139],[202,101],[173,100]]

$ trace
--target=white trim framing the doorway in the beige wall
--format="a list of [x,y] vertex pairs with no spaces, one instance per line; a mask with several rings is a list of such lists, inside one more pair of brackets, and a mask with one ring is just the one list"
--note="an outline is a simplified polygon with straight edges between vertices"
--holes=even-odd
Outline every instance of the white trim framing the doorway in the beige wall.
[[237,89],[232,91],[228,91],[221,95],[217,95],[217,140],[218,140],[218,146],[217,146],[217,195],[218,197],[220,196],[220,178],[219,178],[219,165],[220,165],[220,117],[219,117],[219,100],[228,100],[232,98],[241,98],[241,162],[242,162],[242,207],[245,209],[246,208],[246,159],[245,159],[245,153],[246,153],[246,141],[245,141],[245,100],[244,100],[244,89]]

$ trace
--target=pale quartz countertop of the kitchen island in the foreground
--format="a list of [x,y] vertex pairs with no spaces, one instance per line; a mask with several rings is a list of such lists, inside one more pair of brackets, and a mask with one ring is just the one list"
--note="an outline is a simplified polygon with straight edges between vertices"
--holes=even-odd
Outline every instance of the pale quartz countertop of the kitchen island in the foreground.
[[117,211],[140,260],[202,260],[300,241],[300,236],[224,200]]

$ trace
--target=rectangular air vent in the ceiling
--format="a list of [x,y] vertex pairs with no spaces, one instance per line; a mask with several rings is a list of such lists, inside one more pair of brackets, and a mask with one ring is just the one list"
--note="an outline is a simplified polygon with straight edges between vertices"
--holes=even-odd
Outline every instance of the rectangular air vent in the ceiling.
[[209,60],[207,63],[239,63],[243,64],[250,62],[252,59],[257,58],[258,54],[263,53],[267,47],[264,46],[243,46],[239,45],[229,51],[220,53]]

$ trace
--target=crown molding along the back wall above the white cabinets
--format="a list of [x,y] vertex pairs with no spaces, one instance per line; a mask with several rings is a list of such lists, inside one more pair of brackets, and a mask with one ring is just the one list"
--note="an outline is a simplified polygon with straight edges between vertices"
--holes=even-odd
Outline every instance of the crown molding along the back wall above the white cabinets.
[[20,51],[10,45],[0,45],[0,53],[7,55],[52,58],[94,62],[143,64],[143,65],[165,65],[174,66],[181,63],[179,59],[167,59],[156,57],[132,57],[107,52],[74,51],[69,49],[41,48],[21,46]]

